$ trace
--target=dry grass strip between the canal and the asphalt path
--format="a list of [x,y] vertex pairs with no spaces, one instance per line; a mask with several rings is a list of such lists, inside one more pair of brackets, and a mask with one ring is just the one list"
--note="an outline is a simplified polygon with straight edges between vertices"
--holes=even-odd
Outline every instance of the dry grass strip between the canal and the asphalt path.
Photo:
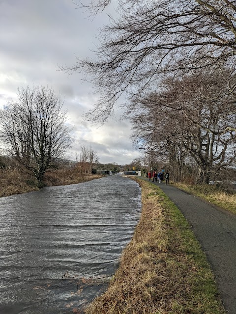
[[211,268],[183,215],[154,184],[107,291],[87,314],[225,314]]

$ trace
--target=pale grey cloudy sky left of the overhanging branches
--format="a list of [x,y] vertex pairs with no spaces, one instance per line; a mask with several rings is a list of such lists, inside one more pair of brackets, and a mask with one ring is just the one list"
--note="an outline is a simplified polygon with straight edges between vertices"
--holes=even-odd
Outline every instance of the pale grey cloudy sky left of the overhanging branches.
[[139,156],[129,121],[119,121],[119,111],[102,127],[84,121],[83,114],[97,96],[81,74],[59,71],[59,66],[73,65],[75,56],[93,55],[99,28],[108,23],[107,13],[114,14],[115,8],[91,20],[72,0],[0,0],[0,107],[16,99],[18,88],[52,87],[64,99],[73,126],[67,157],[75,160],[82,145],[91,145],[100,162],[126,164]]

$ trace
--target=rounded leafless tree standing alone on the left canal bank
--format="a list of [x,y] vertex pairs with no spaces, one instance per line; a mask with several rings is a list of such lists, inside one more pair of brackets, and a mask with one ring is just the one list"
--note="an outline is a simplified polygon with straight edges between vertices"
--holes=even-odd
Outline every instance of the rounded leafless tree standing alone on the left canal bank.
[[0,138],[12,155],[42,186],[44,174],[68,151],[70,128],[63,103],[52,89],[18,90],[18,101],[0,111]]

